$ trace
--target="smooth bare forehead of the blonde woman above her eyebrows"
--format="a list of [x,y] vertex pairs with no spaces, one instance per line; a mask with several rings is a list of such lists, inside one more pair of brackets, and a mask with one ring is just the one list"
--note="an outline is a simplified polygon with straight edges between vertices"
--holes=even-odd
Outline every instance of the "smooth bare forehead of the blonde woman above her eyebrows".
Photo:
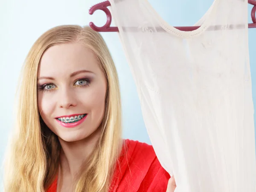
[[96,55],[79,43],[60,44],[44,52],[39,65],[38,76],[69,75],[77,70],[100,71]]

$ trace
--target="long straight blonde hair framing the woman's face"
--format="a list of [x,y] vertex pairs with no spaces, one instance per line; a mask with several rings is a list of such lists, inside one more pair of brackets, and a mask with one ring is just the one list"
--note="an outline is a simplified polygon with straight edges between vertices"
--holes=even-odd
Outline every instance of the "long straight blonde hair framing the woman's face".
[[44,192],[56,177],[61,145],[39,116],[38,65],[44,52],[57,44],[79,42],[91,49],[108,81],[102,135],[86,169],[75,185],[76,192],[107,192],[122,148],[119,81],[111,54],[102,38],[90,27],[64,25],[49,29],[27,55],[20,79],[16,131],[5,161],[5,192]]

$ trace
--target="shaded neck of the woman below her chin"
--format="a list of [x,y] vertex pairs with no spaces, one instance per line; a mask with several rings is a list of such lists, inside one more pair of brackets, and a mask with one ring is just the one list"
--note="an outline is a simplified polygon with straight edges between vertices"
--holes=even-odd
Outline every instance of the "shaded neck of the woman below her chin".
[[98,144],[101,131],[97,129],[93,134],[84,140],[66,142],[59,138],[61,144],[60,163],[63,175],[70,175],[76,178],[82,165],[87,161],[90,154]]

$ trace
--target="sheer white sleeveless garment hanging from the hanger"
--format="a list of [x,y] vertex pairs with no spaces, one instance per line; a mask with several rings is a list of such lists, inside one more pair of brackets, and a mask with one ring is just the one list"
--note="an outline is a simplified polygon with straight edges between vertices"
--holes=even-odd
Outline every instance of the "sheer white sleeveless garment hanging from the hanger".
[[111,12],[161,165],[175,192],[256,192],[246,0],[215,0],[183,32],[147,0]]

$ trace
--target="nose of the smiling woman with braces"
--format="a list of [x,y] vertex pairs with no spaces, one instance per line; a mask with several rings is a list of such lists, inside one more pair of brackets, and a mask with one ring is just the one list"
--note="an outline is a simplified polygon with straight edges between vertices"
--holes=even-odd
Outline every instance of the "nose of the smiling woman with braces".
[[70,88],[64,88],[59,92],[58,103],[60,108],[71,108],[77,105],[76,95],[74,90]]

